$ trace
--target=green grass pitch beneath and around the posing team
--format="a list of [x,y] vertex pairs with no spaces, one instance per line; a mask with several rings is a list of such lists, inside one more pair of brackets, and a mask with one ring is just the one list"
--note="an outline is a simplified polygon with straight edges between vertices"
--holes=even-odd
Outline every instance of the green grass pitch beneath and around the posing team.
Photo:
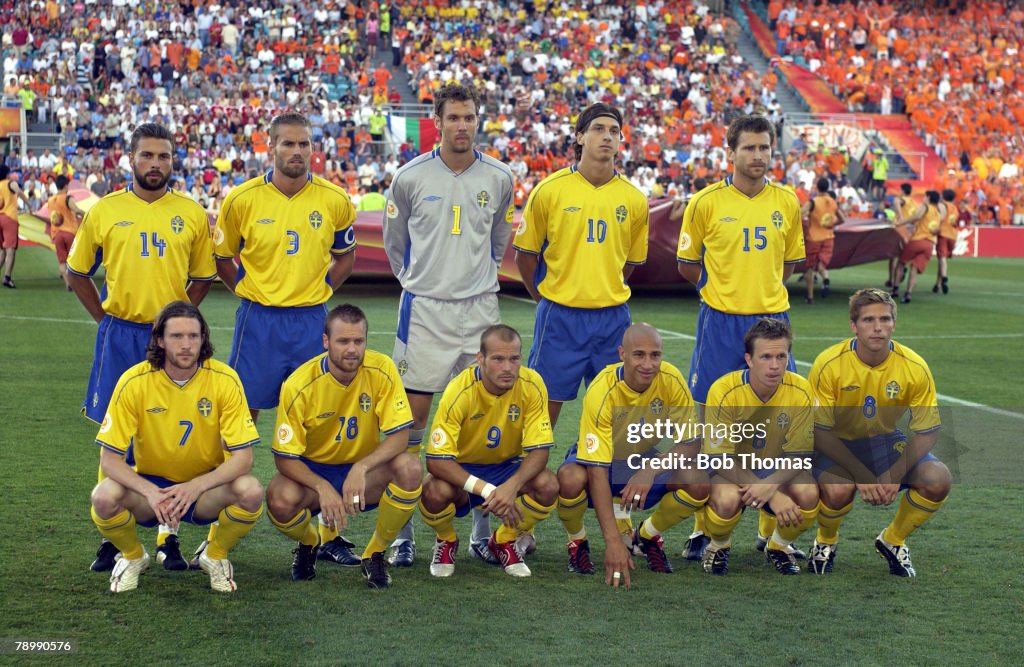
[[[88,572],[99,541],[88,512],[98,456],[95,426],[78,408],[95,325],[63,290],[53,255],[23,249],[17,290],[0,290],[0,638],[73,639],[76,653],[65,661],[87,665],[1017,663],[1024,612],[1024,487],[1013,447],[1024,425],[1020,267],[956,259],[952,291],[942,296],[930,292],[933,264],[913,303],[899,310],[896,338],[930,363],[940,403],[950,408],[944,422],[952,422],[955,460],[947,463],[958,480],[946,506],[910,540],[916,579],[890,577],[872,548],[894,509],[858,501],[829,577],[776,575],[754,551],[756,526],[745,517],[727,577],[706,576],[678,556],[687,522],[667,535],[675,574],[654,575],[638,559],[633,588],[611,590],[599,577],[565,572],[564,532],[552,515],[538,529],[531,578],[515,581],[473,560],[464,539],[456,575],[434,580],[427,572],[432,535],[417,519],[416,568],[393,571],[393,588],[375,592],[357,571],[327,564],[314,581],[293,583],[293,545],[261,519],[232,553],[236,594],[214,593],[202,573],[168,573],[154,561],[137,591],[115,596],[105,575]],[[880,286],[884,274],[881,264],[834,272],[833,296],[813,306],[791,281],[796,358],[811,362],[849,335],[846,296]],[[389,352],[397,295],[392,283],[353,281],[332,303],[365,308],[371,347]],[[523,296],[503,298],[502,312],[528,345],[534,309]],[[236,304],[217,286],[202,306],[221,360]],[[665,332],[666,359],[685,372],[693,293],[637,294],[631,306],[636,321]],[[562,412],[552,468],[574,441],[579,406]],[[255,473],[265,484],[273,472],[272,414],[260,416],[259,429]],[[349,537],[365,544],[373,519],[357,517]],[[592,513],[587,525],[600,565]],[[467,538],[468,519],[458,528]],[[155,532],[140,534],[153,553]],[[204,536],[183,527],[184,550]],[[808,542],[804,536],[799,544]]]

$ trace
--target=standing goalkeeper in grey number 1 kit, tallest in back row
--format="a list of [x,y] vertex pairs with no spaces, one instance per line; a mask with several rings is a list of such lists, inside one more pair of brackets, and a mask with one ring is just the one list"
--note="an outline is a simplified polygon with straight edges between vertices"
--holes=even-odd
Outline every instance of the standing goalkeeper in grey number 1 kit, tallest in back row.
[[[449,84],[434,95],[440,147],[395,174],[384,213],[384,248],[401,283],[393,359],[413,411],[410,447],[419,448],[434,393],[476,360],[484,329],[501,321],[498,264],[514,212],[512,171],[473,148],[477,92]],[[486,517],[474,513],[472,549],[489,559]],[[391,561],[411,567],[412,525]]]

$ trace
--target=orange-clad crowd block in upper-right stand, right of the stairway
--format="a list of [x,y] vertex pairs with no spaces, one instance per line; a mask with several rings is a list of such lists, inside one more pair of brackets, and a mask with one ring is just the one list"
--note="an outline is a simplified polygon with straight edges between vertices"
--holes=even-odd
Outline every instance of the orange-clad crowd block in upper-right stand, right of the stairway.
[[[776,50],[852,111],[905,114],[983,223],[1024,223],[1024,41],[1018,3],[767,2]],[[1017,216],[1015,218],[1015,216]]]

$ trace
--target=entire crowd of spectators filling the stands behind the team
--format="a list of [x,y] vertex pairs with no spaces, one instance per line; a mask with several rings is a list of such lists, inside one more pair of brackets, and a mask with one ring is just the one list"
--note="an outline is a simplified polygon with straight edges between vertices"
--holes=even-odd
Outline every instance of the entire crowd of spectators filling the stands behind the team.
[[[783,120],[773,94],[774,73],[759,76],[744,62],[736,50],[739,26],[699,1],[577,8],[446,0],[400,7],[280,1],[248,6],[238,0],[170,8],[151,4],[35,0],[0,11],[3,94],[19,99],[31,120],[51,123],[60,133],[62,152],[30,152],[24,162],[7,156],[34,206],[45,203],[60,173],[97,196],[122,187],[129,177],[122,137],[155,120],[175,132],[180,177],[173,186],[215,213],[231,187],[266,168],[267,123],[285,108],[310,117],[314,173],[345,187],[355,202],[371,191],[386,192],[418,148],[384,140],[389,105],[400,98],[391,85],[398,68],[424,103],[450,81],[480,89],[485,112],[480,149],[512,167],[518,206],[537,182],[569,164],[574,114],[593,101],[624,109],[621,165],[650,197],[684,197],[698,178],[713,182],[724,176],[723,133],[736,115],[763,113],[778,127]],[[981,12],[985,25],[998,19],[1012,33],[1009,43],[992,42],[1010,57],[1021,30],[1013,28],[1020,23],[1013,20],[1019,10],[1000,12],[994,3],[972,7],[967,12],[972,17]],[[1012,72],[1000,79],[1005,73],[989,68],[994,74],[989,84],[972,86],[956,53],[922,51],[921,62],[905,58],[906,42],[916,43],[914,35],[928,30],[927,22],[920,11],[899,17],[887,11],[891,8],[882,5],[857,13],[853,5],[839,4],[811,13],[795,3],[769,4],[783,52],[805,57],[851,105],[888,111],[883,97],[891,97],[894,111],[915,119],[940,155],[952,160],[953,170],[936,186],[953,186],[978,221],[1010,223],[1015,214],[1024,221],[1024,142],[1019,130],[1015,135],[995,127],[1009,122],[1006,105],[1020,98],[1018,92],[1007,100],[995,93],[1019,88],[1019,82]],[[373,41],[382,50],[390,44],[390,68],[386,58],[369,57],[368,26],[376,28]],[[877,39],[861,44],[860,31]],[[834,45],[846,48],[828,51]],[[956,68],[931,69],[949,57]],[[913,92],[912,77],[922,62],[929,72],[956,74],[952,80],[959,85]],[[879,77],[872,79],[876,70],[881,86]],[[948,103],[962,98],[961,106]],[[995,106],[983,114],[983,123],[946,122],[945,116],[940,122],[933,114],[939,108],[947,115],[966,113],[976,98],[986,110]],[[1021,110],[1019,105],[1015,113]],[[959,145],[978,149],[969,153]],[[845,174],[848,160],[839,159],[838,147],[822,150],[798,141],[796,151],[776,156],[773,173],[806,200],[818,177],[842,187],[839,162]],[[856,189],[844,192],[844,207],[871,211]]]

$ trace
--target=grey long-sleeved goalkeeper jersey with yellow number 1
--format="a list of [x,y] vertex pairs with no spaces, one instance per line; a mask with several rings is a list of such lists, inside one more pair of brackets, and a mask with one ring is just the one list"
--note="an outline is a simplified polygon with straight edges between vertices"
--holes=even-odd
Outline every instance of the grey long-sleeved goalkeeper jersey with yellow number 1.
[[434,149],[394,176],[384,209],[384,251],[402,288],[465,299],[498,291],[512,234],[512,170],[490,156],[456,174]]

